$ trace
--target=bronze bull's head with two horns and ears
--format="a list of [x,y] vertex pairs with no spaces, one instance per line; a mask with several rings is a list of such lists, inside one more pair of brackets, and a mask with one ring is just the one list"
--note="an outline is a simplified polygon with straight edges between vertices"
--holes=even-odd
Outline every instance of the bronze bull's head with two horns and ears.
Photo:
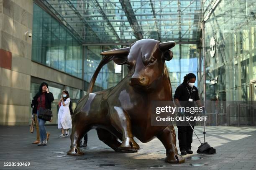
[[116,64],[127,64],[130,85],[148,87],[160,76],[164,75],[164,62],[172,59],[174,41],[160,43],[153,39],[143,39],[130,47],[104,51],[103,56],[114,56]]

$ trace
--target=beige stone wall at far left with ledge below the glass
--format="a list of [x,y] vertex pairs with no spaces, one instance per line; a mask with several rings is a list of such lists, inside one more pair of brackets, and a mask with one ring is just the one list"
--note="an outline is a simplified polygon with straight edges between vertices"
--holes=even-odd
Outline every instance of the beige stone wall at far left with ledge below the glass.
[[33,0],[0,0],[0,125],[29,124],[31,76],[82,89],[82,80],[31,61],[32,22]]

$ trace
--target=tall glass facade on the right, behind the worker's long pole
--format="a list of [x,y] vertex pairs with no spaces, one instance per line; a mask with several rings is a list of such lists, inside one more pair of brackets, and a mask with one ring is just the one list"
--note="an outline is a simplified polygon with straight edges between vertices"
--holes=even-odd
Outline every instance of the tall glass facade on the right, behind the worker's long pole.
[[[255,1],[221,0],[210,3],[209,8],[213,10],[205,13],[202,38],[205,96],[216,105],[214,111],[208,113],[209,125],[255,125]],[[204,60],[201,61],[203,66]]]

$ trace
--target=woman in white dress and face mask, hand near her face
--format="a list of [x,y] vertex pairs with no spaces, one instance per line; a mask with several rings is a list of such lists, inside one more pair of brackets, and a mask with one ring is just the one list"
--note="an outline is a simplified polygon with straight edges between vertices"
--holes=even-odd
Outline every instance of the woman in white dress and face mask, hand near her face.
[[69,92],[67,90],[62,91],[61,99],[59,101],[58,112],[58,128],[61,129],[61,135],[59,137],[66,137],[69,135],[69,129],[72,128],[71,115],[69,111]]

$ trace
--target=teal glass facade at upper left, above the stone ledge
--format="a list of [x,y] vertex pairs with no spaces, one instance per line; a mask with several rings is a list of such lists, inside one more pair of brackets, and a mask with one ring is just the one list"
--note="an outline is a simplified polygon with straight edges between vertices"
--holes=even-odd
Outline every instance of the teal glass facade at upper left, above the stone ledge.
[[33,7],[32,60],[82,79],[82,43],[36,4]]

